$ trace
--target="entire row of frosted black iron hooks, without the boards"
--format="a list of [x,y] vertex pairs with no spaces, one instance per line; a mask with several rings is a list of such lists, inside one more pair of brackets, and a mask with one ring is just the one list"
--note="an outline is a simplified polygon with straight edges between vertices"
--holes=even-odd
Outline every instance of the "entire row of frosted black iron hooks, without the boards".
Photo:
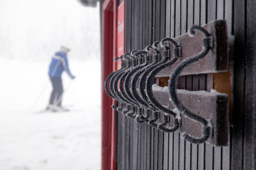
[[[121,61],[121,68],[109,74],[104,84],[106,93],[114,100],[119,101],[119,106],[112,105],[112,108],[133,118],[138,123],[145,122],[167,133],[172,133],[181,126],[180,114],[184,114],[184,116],[203,125],[203,134],[200,138],[193,138],[187,133],[184,134],[184,138],[192,143],[207,141],[211,131],[209,121],[185,108],[178,99],[176,90],[177,79],[181,71],[191,63],[205,57],[213,48],[213,37],[203,27],[193,25],[189,35],[195,36],[196,29],[205,36],[202,52],[177,65],[169,79],[170,99],[179,112],[174,112],[174,110],[161,105],[155,99],[152,90],[155,76],[161,70],[173,65],[181,57],[180,46],[168,37],[146,46],[144,50],[133,50],[131,53],[115,57],[115,61],[118,59]],[[164,49],[161,54],[160,48]],[[160,58],[162,59],[160,60]],[[160,121],[160,112],[163,113],[162,121]],[[170,122],[172,123],[170,124]]]

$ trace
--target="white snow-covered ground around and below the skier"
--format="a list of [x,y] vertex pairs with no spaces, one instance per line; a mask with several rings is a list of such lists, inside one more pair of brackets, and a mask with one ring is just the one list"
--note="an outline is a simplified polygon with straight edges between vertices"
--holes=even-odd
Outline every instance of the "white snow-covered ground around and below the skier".
[[48,103],[48,62],[0,58],[0,170],[100,169],[100,62],[69,58],[63,105],[70,112],[38,113]]

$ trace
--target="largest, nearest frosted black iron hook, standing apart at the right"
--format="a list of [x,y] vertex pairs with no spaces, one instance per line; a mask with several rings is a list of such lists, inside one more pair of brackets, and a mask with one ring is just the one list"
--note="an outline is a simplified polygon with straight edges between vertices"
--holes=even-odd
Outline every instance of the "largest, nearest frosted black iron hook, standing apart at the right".
[[199,59],[205,57],[207,55],[207,53],[209,52],[209,50],[211,48],[213,48],[213,37],[210,36],[210,34],[203,28],[200,27],[199,25],[193,25],[190,29],[190,34],[192,36],[195,35],[195,29],[198,29],[199,31],[203,32],[205,37],[203,38],[203,51],[198,54],[195,57],[191,57],[183,62],[181,62],[174,70],[174,72],[172,73],[170,79],[169,79],[169,93],[171,96],[171,100],[172,103],[175,105],[175,107],[177,109],[179,109],[179,111],[183,114],[185,114],[185,116],[192,118],[195,121],[200,122],[201,124],[203,124],[203,137],[201,138],[193,138],[190,137],[188,134],[184,134],[184,137],[187,141],[191,142],[191,143],[203,143],[205,141],[207,141],[207,139],[209,138],[210,135],[210,130],[211,130],[211,126],[209,125],[210,123],[205,120],[203,117],[198,116],[195,113],[192,113],[191,111],[188,111],[187,108],[185,108],[185,106],[180,102],[180,100],[177,98],[177,90],[176,90],[176,83],[177,83],[177,79],[179,78],[179,75],[181,73],[181,71],[187,67],[188,65],[190,65],[191,63],[194,63],[196,61],[199,61]]

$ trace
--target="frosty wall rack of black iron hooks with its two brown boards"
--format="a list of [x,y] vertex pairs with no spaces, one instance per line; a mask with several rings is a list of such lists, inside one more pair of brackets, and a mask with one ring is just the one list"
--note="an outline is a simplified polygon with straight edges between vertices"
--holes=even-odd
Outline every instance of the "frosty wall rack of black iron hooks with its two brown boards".
[[[118,101],[112,107],[138,123],[167,133],[177,130],[192,143],[228,145],[228,96],[176,89],[180,75],[226,70],[224,28],[223,21],[193,25],[189,33],[175,39],[166,37],[115,58],[122,61],[121,68],[104,84],[107,94]],[[168,86],[154,84],[155,79],[169,76]]]

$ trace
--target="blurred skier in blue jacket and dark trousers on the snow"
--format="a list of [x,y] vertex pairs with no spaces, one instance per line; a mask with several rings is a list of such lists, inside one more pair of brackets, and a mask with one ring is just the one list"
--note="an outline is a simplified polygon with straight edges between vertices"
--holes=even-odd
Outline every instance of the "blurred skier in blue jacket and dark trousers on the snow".
[[75,76],[71,74],[68,68],[68,58],[67,53],[70,49],[65,46],[61,46],[59,52],[56,52],[52,57],[51,64],[49,66],[49,78],[52,82],[52,93],[47,106],[47,110],[51,111],[68,111],[68,109],[61,107],[61,100],[63,95],[63,84],[61,80],[61,74],[63,71],[67,71],[67,74],[71,79],[74,79]]

